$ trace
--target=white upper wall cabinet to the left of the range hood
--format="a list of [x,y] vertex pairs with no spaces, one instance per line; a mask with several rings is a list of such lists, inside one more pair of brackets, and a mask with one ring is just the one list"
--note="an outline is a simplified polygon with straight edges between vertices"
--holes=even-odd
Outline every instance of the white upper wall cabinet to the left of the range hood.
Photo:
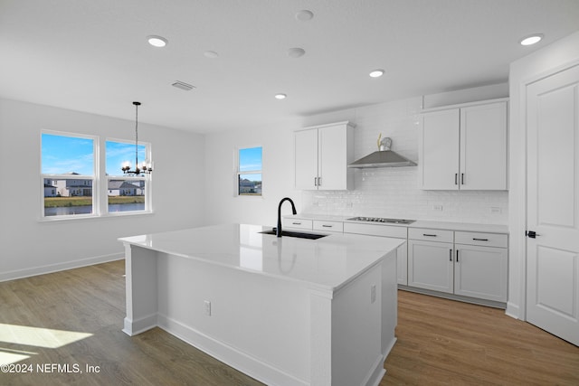
[[353,171],[347,168],[354,155],[353,128],[346,121],[294,132],[296,189],[354,188]]

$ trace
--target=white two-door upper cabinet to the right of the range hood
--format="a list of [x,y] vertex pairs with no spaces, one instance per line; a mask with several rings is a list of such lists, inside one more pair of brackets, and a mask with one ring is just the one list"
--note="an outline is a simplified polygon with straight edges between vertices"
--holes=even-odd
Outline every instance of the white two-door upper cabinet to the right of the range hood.
[[424,190],[507,190],[507,99],[422,114]]

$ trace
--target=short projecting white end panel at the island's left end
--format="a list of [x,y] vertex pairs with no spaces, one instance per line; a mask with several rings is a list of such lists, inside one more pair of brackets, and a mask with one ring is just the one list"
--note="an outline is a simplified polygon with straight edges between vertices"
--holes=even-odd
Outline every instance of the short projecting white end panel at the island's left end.
[[157,326],[157,251],[124,245],[127,316],[123,332],[132,336]]

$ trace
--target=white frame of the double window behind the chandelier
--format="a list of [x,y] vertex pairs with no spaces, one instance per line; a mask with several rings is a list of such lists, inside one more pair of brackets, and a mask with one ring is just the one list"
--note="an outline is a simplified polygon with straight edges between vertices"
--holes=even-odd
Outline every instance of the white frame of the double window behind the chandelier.
[[[92,140],[93,155],[93,175],[86,174],[43,174],[43,135],[48,134],[60,137],[84,138]],[[111,218],[134,216],[153,213],[152,199],[152,174],[143,174],[140,176],[130,176],[126,174],[107,175],[106,170],[106,144],[107,142],[119,142],[129,145],[135,145],[134,141],[129,139],[119,139],[110,137],[100,137],[90,134],[73,133],[68,131],[42,129],[40,131],[40,221],[80,221],[95,218]],[[152,160],[152,145],[149,142],[138,141],[139,146],[145,146],[147,160]],[[120,165],[119,165],[120,170]],[[45,180],[71,180],[83,179],[92,181],[92,211],[84,214],[65,214],[65,215],[45,215],[44,208],[44,181]],[[109,180],[124,181],[145,181],[145,209],[138,211],[109,212]]]

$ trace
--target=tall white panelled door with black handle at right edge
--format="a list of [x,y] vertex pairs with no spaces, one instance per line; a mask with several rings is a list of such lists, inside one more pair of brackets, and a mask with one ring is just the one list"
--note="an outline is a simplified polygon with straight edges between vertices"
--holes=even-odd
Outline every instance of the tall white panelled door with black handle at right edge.
[[527,230],[527,321],[579,345],[579,66],[527,87]]

